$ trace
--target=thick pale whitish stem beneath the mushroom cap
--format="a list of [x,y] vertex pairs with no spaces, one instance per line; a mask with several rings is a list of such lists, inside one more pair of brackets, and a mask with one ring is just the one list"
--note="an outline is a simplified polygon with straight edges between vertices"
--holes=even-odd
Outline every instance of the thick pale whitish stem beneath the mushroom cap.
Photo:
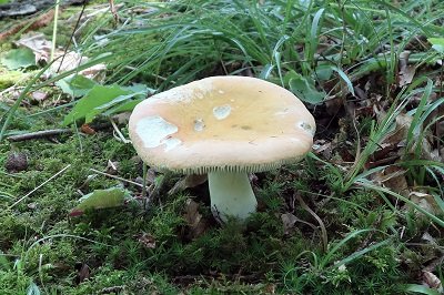
[[243,221],[256,211],[256,197],[246,173],[210,172],[208,179],[214,217],[223,222],[229,216]]

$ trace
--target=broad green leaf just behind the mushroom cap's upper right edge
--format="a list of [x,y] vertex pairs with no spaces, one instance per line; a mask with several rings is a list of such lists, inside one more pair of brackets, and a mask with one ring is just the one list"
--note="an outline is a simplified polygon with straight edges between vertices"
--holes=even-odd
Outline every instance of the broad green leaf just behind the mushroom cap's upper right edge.
[[325,92],[320,92],[314,87],[312,79],[306,79],[299,73],[293,72],[293,78],[290,79],[290,90],[302,101],[316,104],[324,100]]

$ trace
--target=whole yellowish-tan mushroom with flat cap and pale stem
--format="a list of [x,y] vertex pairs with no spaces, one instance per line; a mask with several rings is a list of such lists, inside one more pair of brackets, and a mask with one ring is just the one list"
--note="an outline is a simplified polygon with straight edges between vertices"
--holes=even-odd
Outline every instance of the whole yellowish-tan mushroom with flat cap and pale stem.
[[150,166],[208,173],[211,210],[225,222],[256,210],[248,173],[300,161],[315,123],[290,91],[249,77],[211,77],[139,103],[129,133]]

